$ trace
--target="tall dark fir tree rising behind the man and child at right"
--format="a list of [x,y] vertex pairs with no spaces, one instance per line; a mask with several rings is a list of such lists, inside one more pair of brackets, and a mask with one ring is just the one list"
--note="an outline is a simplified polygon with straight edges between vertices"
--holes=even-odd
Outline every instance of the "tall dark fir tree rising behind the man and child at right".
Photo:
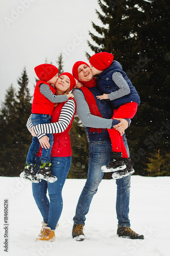
[[[136,174],[147,175],[144,162],[149,154],[159,148],[165,154],[169,148],[169,1],[98,3],[103,26],[92,23],[98,35],[90,32],[95,46],[88,45],[94,53],[112,53],[138,91],[141,104],[126,133]],[[162,123],[167,126],[164,132]]]

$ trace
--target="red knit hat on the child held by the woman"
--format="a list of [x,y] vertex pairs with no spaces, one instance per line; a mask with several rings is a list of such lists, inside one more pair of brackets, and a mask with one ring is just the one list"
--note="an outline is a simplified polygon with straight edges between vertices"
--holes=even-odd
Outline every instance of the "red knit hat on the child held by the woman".
[[58,73],[58,69],[52,64],[41,64],[35,67],[35,73],[40,80],[49,81]]

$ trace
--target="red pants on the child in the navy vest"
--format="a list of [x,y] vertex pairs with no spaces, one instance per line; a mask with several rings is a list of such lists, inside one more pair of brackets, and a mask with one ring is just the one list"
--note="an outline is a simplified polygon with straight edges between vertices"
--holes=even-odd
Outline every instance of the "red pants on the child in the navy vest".
[[[137,103],[129,102],[122,106],[119,106],[117,110],[114,110],[114,118],[133,118],[137,111]],[[113,119],[112,117],[112,119]],[[128,158],[126,147],[124,145],[123,136],[115,129],[108,129],[108,133],[112,143],[112,152],[122,152],[123,158]]]

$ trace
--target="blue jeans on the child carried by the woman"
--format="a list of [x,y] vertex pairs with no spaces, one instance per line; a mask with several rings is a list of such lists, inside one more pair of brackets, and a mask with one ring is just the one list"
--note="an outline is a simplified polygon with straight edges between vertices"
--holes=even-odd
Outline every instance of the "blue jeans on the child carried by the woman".
[[[42,124],[42,123],[50,123],[51,122],[51,116],[50,115],[46,115],[46,114],[32,114],[32,118],[31,121],[33,123],[33,125],[37,125],[37,124]],[[51,150],[52,150],[52,146],[54,143],[54,139],[53,139],[53,134],[46,134],[46,136],[48,136],[49,138],[49,143],[50,143],[50,148],[46,149],[42,148],[42,155],[41,155],[41,162],[42,163],[49,163],[51,162]],[[30,145],[30,149],[27,155],[27,160],[26,162],[28,164],[31,165],[35,165],[35,158],[36,155],[40,149],[40,143],[39,140],[37,139],[37,137],[33,137],[32,139],[32,143]]]

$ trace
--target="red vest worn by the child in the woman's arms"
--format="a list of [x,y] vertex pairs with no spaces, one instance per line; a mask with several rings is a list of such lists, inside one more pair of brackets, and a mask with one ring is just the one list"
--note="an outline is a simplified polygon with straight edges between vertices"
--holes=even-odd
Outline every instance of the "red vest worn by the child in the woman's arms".
[[34,90],[34,98],[33,98],[33,104],[32,104],[32,113],[33,114],[47,114],[52,115],[53,109],[54,109],[54,103],[48,100],[42,93],[39,91],[39,85],[40,83],[45,83],[50,87],[50,90],[53,94],[55,94],[56,90],[51,86],[51,84],[39,80],[36,83],[36,87]]

